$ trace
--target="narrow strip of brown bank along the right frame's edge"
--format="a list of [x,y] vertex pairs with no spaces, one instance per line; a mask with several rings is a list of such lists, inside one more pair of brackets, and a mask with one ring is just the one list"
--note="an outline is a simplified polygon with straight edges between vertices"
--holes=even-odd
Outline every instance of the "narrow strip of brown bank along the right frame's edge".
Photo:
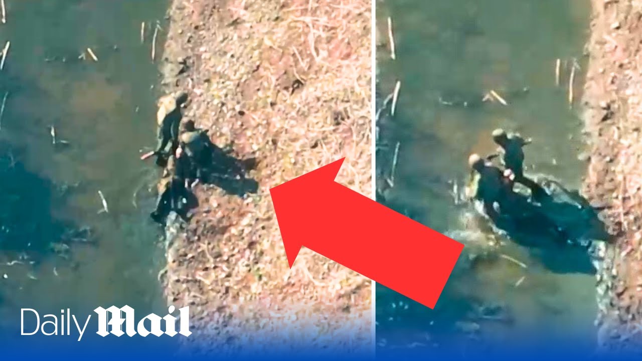
[[[642,345],[642,2],[592,0],[584,89],[591,160],[584,191],[612,239],[598,274],[599,342]],[[602,288],[601,288],[602,287]],[[603,294],[603,295],[602,295]]]

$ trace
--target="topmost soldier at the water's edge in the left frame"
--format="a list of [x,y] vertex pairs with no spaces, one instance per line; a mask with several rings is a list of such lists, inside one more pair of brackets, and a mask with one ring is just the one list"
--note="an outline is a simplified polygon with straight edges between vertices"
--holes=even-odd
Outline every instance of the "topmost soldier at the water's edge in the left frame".
[[[158,145],[154,154],[160,156],[165,152],[167,145],[171,142],[171,151],[174,154],[178,148],[178,127],[180,125],[180,106],[187,101],[186,92],[169,94],[159,99],[159,110],[156,113]],[[158,163],[158,161],[157,161]]]

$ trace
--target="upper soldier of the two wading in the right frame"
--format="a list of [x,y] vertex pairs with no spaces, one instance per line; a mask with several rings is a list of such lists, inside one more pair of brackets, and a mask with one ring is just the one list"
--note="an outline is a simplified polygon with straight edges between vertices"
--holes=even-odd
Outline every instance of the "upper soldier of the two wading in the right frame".
[[489,159],[501,155],[504,166],[512,173],[512,180],[521,183],[530,188],[533,197],[539,197],[546,194],[546,191],[533,180],[524,175],[524,150],[525,145],[531,143],[531,139],[524,139],[518,134],[506,134],[503,129],[496,129],[492,132],[493,141],[499,145],[499,154],[489,156]]

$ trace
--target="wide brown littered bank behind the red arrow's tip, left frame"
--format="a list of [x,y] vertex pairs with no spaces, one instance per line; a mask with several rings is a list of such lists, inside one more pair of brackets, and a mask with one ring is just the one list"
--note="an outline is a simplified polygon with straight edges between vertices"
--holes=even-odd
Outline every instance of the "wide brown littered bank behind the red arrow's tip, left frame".
[[345,156],[336,181],[371,194],[370,1],[175,0],[169,17],[165,90],[189,92],[184,119],[214,144],[258,161],[255,195],[196,186],[168,249],[161,276],[168,303],[190,306],[187,340],[370,352],[370,280],[308,249],[290,270],[269,193]]

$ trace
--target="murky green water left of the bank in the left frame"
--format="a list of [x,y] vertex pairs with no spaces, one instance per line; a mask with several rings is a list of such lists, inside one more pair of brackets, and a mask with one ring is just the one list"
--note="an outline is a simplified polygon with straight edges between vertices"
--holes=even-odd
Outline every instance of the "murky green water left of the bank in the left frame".
[[[128,304],[137,318],[164,315],[157,282],[160,229],[149,217],[150,187],[159,170],[139,155],[155,145],[160,94],[150,24],[160,20],[166,30],[168,1],[6,3],[0,40],[10,40],[11,47],[0,78],[2,93],[10,92],[0,130],[8,175],[3,182],[24,200],[11,211],[24,216],[3,225],[24,234],[1,243],[8,250],[0,256],[0,276],[6,274],[0,279],[3,330],[16,335],[19,308],[40,315],[71,308],[86,317],[97,306]],[[148,26],[141,44],[143,21]],[[51,125],[56,139],[68,145],[52,144]],[[108,213],[99,213],[99,190]],[[69,241],[67,258],[47,250],[66,230],[83,226],[92,229],[89,242]],[[21,253],[28,256],[25,265],[5,264]]]

